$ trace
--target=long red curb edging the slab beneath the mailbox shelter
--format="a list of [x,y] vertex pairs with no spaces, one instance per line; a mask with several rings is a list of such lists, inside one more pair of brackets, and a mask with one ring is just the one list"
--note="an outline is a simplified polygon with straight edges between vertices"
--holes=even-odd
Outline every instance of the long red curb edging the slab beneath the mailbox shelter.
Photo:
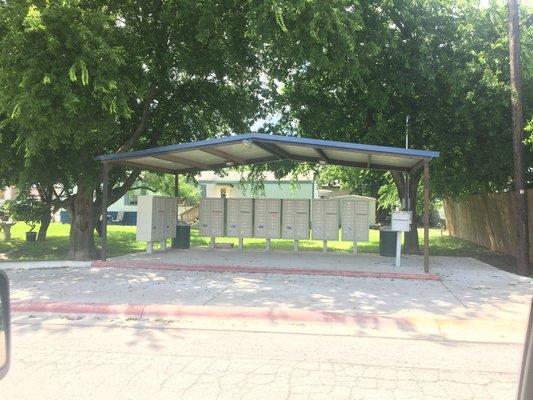
[[92,267],[96,268],[134,268],[134,269],[160,269],[176,271],[209,271],[209,272],[246,272],[252,274],[283,274],[283,275],[318,275],[318,276],[346,276],[352,278],[385,278],[385,279],[411,279],[423,281],[439,281],[437,274],[415,272],[379,272],[379,271],[347,271],[311,268],[276,268],[276,267],[249,267],[237,265],[189,265],[174,264],[161,261],[93,261]]

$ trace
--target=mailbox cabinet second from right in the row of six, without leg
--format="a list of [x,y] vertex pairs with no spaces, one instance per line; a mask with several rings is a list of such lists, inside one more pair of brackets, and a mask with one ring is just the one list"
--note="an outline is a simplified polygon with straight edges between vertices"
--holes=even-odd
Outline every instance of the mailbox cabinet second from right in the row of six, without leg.
[[312,202],[311,229],[314,240],[337,240],[339,238],[339,201],[316,199]]

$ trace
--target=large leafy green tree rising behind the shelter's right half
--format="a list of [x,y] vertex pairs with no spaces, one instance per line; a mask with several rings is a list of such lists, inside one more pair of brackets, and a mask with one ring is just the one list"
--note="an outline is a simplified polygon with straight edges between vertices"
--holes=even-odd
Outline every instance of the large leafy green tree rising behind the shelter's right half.
[[[410,146],[441,151],[432,163],[437,195],[509,186],[503,6],[391,0],[355,7],[339,1],[329,3],[334,12],[317,24],[308,12],[311,5],[281,4],[278,37],[265,56],[275,94],[272,108],[282,110],[278,131],[403,147],[409,115]],[[530,94],[532,85],[524,82]],[[531,115],[528,104],[526,115]],[[404,177],[392,176],[405,197]],[[411,174],[407,189],[415,227],[419,182],[420,171]],[[406,237],[408,251],[418,252],[417,230]]]

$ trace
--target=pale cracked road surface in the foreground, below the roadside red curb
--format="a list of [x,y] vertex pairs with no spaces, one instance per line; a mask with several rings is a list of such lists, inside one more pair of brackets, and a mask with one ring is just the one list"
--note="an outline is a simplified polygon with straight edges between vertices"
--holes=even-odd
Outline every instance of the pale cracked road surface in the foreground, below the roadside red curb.
[[[517,343],[15,318],[3,400],[515,398]],[[184,324],[183,326],[187,326]]]

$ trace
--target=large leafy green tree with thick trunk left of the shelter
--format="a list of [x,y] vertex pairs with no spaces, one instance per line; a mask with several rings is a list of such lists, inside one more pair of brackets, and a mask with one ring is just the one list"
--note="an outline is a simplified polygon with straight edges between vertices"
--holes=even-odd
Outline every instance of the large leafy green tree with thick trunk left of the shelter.
[[[97,256],[96,155],[244,131],[255,119],[260,81],[246,34],[249,7],[236,0],[0,5],[0,115],[16,132],[15,153],[39,159],[31,165],[41,171],[59,166],[71,258]],[[114,167],[109,202],[139,174]]]

